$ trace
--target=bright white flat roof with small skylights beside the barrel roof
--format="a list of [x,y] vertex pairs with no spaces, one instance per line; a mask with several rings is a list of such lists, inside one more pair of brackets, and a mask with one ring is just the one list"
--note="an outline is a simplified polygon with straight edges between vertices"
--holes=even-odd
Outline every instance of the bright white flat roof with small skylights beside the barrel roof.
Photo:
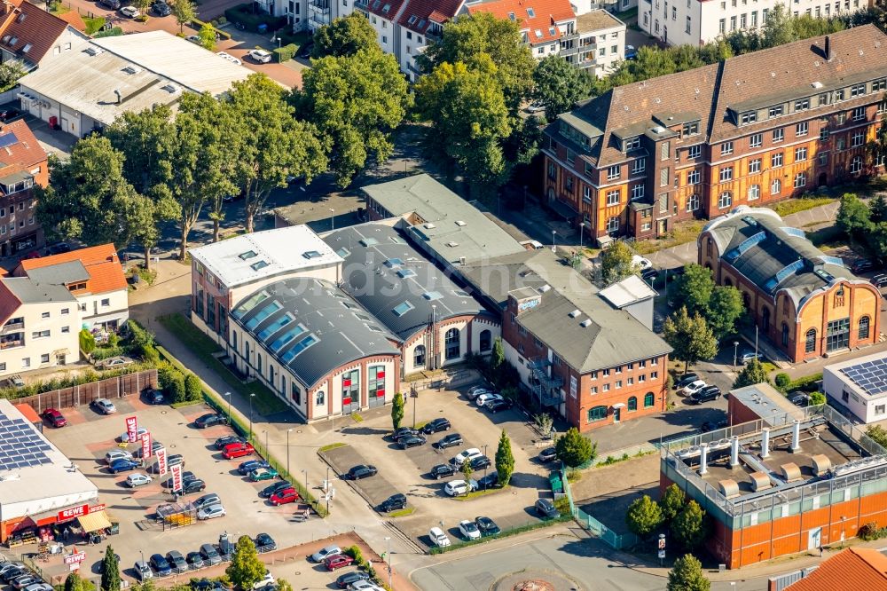
[[307,225],[240,234],[189,252],[228,288],[282,273],[326,268],[342,261]]

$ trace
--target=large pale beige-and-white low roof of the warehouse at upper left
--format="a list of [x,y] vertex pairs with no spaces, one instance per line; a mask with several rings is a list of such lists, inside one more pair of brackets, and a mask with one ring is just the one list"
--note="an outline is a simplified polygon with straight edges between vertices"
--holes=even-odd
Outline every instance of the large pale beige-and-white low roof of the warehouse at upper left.
[[20,95],[34,91],[107,125],[155,104],[175,110],[183,91],[219,96],[251,74],[181,37],[150,31],[92,39],[19,82]]

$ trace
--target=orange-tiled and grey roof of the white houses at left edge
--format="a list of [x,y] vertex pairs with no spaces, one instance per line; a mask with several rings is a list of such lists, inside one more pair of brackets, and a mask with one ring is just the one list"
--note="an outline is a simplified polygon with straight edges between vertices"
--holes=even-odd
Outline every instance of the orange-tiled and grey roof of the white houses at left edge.
[[89,274],[86,289],[93,294],[127,288],[126,276],[113,244],[80,248],[41,258],[27,258],[21,261],[14,274],[17,277],[32,277],[32,272],[40,269],[34,273],[32,279],[67,284],[78,280],[76,278],[82,275],[81,267]]

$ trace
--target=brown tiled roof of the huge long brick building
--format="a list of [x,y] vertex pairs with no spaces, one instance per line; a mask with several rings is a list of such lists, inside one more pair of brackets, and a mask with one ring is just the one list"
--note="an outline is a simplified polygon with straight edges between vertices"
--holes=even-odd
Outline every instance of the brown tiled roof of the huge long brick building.
[[[586,128],[584,132],[602,130],[602,137],[592,139],[585,157],[599,167],[623,162],[625,155],[612,132],[634,128],[634,135],[643,134],[660,124],[653,121],[654,114],[697,114],[702,135],[685,140],[687,144],[718,142],[773,126],[773,121],[765,120],[737,128],[726,116],[728,107],[749,105],[750,101],[762,106],[768,100],[781,103],[887,75],[887,35],[875,25],[828,36],[834,56],[831,61],[823,57],[825,36],[820,36],[605,92],[569,114]],[[766,80],[764,85],[762,79]],[[870,95],[844,101],[843,105],[849,109],[866,101],[871,101]],[[815,109],[803,111],[782,117],[780,122],[809,119],[815,113]],[[555,123],[550,130],[556,129]]]

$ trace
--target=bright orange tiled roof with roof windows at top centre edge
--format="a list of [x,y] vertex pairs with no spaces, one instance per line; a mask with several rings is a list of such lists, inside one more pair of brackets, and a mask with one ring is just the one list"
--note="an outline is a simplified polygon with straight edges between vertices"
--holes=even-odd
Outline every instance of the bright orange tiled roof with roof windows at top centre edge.
[[490,0],[467,6],[468,12],[490,12],[497,19],[517,20],[530,45],[561,38],[556,23],[576,18],[569,0]]

